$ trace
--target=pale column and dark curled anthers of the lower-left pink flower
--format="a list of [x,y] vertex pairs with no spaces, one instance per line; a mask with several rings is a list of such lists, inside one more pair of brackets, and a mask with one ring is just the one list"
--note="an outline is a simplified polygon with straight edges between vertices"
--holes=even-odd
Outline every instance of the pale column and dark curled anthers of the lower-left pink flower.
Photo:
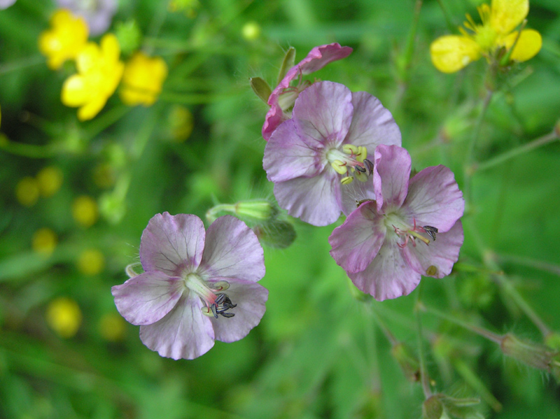
[[211,284],[207,283],[197,274],[188,274],[185,278],[185,286],[188,290],[195,292],[204,303],[202,313],[208,316],[218,318],[218,314],[225,318],[232,318],[234,313],[227,313],[230,308],[237,307],[233,304],[228,294],[225,291],[230,287],[230,283],[225,280],[218,280],[218,282]]

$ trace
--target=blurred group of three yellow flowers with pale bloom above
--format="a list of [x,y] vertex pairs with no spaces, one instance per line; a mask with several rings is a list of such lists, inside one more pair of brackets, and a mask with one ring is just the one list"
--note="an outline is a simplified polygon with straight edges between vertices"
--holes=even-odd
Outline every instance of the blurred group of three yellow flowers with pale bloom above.
[[[160,57],[135,52],[124,64],[120,45],[113,34],[105,34],[99,45],[88,42],[88,34],[100,34],[111,23],[116,2],[76,2],[59,0],[62,8],[50,20],[51,29],[39,37],[39,50],[47,57],[50,69],[59,69],[66,60],[75,60],[77,73],[62,86],[61,100],[78,108],[78,119],[90,120],[123,84],[120,97],[129,106],[152,105],[159,97],[167,78],[167,64]],[[73,12],[76,15],[73,15]]]

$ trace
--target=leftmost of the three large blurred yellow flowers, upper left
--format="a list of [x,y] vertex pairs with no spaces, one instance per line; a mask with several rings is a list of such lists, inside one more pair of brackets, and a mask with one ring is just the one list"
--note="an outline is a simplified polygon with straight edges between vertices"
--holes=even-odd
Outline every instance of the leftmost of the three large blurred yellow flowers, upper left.
[[51,29],[39,36],[39,50],[47,57],[47,65],[56,70],[66,59],[74,59],[87,43],[87,23],[61,9],[50,18]]

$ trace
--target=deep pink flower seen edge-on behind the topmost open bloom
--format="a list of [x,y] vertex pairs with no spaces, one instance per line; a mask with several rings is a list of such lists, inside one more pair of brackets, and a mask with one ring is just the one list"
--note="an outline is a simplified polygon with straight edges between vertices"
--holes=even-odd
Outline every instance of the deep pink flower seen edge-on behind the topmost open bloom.
[[314,73],[322,69],[330,62],[348,57],[352,52],[350,47],[341,47],[339,43],[319,45],[307,54],[307,57],[293,66],[279,85],[272,91],[268,98],[270,106],[265,117],[265,124],[262,125],[262,137],[268,141],[274,129],[282,122],[290,119],[289,109],[293,106],[297,95],[310,85],[309,82],[300,83],[290,87],[290,82],[295,78],[300,78],[306,74]]

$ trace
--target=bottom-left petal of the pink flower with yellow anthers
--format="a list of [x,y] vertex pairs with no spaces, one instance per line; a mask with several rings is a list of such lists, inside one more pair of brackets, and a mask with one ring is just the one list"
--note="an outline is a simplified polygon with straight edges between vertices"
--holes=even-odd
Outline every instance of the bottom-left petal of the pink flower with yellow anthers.
[[274,184],[274,196],[279,206],[292,217],[311,225],[329,225],[340,216],[342,206],[340,182],[330,166],[318,176],[295,178]]

